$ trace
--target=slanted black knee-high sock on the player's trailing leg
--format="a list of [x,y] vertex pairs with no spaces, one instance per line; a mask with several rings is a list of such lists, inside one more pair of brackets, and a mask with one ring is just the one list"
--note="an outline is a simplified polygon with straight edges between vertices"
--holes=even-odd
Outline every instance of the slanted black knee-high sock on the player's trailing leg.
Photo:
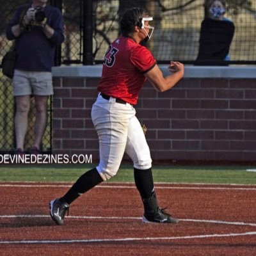
[[100,177],[97,169],[93,168],[81,175],[67,193],[60,198],[60,201],[71,204],[77,197],[97,186],[102,181],[102,177]]

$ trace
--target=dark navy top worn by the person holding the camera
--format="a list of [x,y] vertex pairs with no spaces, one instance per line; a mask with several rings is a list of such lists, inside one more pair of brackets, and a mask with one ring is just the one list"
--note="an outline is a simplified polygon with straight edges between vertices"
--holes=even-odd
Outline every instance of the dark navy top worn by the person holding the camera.
[[44,13],[47,24],[54,29],[54,35],[47,38],[39,26],[32,26],[30,31],[22,31],[18,38],[12,33],[12,26],[20,23],[21,16],[31,6],[22,6],[17,9],[15,15],[8,24],[6,36],[9,40],[16,39],[17,61],[15,68],[26,71],[49,71],[54,66],[54,54],[56,45],[64,40],[63,19],[58,8],[45,6]]

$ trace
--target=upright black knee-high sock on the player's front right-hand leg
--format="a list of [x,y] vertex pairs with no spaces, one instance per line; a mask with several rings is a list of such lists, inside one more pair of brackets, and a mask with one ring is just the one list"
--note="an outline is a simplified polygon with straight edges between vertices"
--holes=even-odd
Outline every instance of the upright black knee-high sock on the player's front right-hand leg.
[[134,180],[136,188],[140,192],[141,198],[150,198],[154,191],[154,181],[151,168],[147,170],[139,170],[134,168]]

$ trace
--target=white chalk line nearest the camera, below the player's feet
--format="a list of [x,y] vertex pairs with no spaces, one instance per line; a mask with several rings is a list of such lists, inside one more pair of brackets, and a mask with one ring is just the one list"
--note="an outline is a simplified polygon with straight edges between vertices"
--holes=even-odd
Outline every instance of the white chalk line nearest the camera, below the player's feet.
[[230,234],[208,234],[198,236],[173,236],[173,237],[126,237],[113,239],[65,239],[65,240],[16,240],[0,241],[0,244],[70,244],[70,243],[106,243],[106,242],[130,242],[130,241],[157,241],[157,240],[182,240],[182,239],[204,239],[211,237],[236,237],[255,236],[256,232],[230,233]]

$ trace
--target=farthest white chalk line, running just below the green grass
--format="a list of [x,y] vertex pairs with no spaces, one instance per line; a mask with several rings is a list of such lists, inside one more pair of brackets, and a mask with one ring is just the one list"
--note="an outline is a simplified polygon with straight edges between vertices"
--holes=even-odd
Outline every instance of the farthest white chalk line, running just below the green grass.
[[[67,184],[0,184],[0,187],[7,188],[70,188],[72,185]],[[99,185],[95,188],[123,188],[123,189],[136,189],[135,186],[126,185]],[[228,188],[228,187],[178,187],[178,186],[155,186],[157,189],[205,189],[205,190],[240,190],[240,191],[256,191],[256,188]]]

